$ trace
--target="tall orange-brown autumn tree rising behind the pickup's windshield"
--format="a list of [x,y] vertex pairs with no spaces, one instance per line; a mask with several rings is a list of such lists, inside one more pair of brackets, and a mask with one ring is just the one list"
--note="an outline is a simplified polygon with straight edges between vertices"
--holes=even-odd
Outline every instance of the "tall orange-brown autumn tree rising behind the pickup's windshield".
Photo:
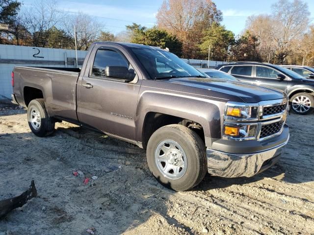
[[203,32],[222,13],[211,0],[164,0],[157,13],[157,25],[183,43],[183,57],[195,58]]

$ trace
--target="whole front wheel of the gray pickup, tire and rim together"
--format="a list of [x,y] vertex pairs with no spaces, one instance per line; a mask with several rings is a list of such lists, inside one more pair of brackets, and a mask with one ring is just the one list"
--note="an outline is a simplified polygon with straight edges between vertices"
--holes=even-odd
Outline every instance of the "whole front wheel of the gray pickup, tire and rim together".
[[163,126],[148,141],[147,163],[162,185],[176,191],[188,190],[198,185],[207,172],[204,142],[185,126]]

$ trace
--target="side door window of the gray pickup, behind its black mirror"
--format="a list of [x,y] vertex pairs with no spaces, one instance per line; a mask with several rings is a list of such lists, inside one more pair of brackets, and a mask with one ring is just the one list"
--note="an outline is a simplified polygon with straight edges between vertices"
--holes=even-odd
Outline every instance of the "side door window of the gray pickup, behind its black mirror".
[[120,53],[110,49],[98,49],[91,75],[106,77],[106,69],[108,70],[108,67],[111,67],[110,69],[113,70],[113,73],[111,73],[115,74],[115,76],[110,77],[118,79],[124,79],[123,74],[128,73],[131,69],[134,72],[129,61]]

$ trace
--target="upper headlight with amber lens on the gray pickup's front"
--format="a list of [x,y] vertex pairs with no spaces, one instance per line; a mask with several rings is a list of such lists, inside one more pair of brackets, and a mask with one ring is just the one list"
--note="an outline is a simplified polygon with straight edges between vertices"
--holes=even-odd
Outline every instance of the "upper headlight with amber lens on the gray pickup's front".
[[225,116],[238,119],[258,118],[258,106],[227,106]]

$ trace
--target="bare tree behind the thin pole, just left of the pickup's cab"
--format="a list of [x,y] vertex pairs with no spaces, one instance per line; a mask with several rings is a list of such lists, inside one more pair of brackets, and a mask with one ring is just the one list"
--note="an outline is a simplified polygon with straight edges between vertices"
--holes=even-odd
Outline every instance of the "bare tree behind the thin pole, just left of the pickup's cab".
[[101,29],[104,27],[96,18],[82,12],[68,15],[64,19],[63,28],[72,38],[72,48],[75,48],[74,26],[77,32],[78,50],[88,50],[90,45],[100,36]]

